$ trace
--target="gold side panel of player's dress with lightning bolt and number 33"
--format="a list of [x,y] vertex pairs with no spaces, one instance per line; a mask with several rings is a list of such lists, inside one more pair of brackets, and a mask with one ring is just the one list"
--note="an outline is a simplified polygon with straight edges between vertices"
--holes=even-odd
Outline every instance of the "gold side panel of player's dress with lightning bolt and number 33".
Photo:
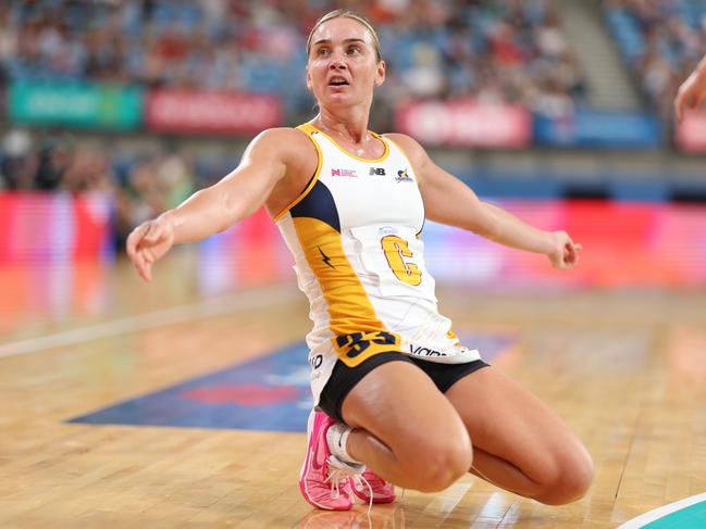
[[344,253],[340,234],[317,218],[294,217],[293,222],[307,263],[326,300],[338,357],[348,367],[355,367],[374,354],[398,351],[399,337],[388,332],[377,318]]

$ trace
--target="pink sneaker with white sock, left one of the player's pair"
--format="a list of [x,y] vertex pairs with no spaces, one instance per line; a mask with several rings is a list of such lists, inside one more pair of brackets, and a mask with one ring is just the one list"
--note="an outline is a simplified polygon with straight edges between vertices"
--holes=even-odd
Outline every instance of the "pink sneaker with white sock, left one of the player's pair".
[[352,508],[350,478],[364,470],[331,455],[326,431],[335,421],[323,412],[311,411],[307,424],[307,456],[299,475],[299,490],[311,505],[327,511]]

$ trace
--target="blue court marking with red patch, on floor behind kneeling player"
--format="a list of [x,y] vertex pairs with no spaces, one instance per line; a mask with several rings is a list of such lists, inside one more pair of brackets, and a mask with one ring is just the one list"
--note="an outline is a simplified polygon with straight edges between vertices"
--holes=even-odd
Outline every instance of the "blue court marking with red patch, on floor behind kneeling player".
[[[472,335],[462,342],[492,361],[515,338]],[[306,431],[312,405],[307,355],[307,345],[297,343],[69,423]]]

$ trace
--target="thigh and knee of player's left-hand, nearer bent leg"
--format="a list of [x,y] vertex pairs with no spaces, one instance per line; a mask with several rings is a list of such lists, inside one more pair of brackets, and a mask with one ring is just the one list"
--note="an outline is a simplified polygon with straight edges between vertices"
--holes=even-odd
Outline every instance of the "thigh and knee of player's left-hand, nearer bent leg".
[[348,454],[400,487],[439,491],[468,473],[472,448],[451,403],[411,362],[368,373],[343,401]]

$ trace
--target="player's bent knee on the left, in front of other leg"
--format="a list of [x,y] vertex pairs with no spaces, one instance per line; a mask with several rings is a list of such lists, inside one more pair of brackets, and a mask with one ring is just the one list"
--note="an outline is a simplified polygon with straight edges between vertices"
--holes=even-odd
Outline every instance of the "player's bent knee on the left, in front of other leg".
[[437,492],[450,487],[466,475],[473,463],[468,433],[444,439],[430,439],[417,444],[402,465],[414,489]]

